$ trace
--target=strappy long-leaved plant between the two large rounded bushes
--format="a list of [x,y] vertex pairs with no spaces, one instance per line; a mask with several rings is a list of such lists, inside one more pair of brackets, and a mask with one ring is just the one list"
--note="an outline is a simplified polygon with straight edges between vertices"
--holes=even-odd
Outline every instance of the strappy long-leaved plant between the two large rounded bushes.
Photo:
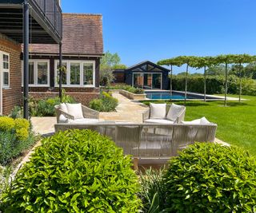
[[140,172],[141,190],[138,193],[142,199],[143,212],[157,213],[162,208],[163,193],[163,176],[164,168],[154,170],[146,169],[145,172]]

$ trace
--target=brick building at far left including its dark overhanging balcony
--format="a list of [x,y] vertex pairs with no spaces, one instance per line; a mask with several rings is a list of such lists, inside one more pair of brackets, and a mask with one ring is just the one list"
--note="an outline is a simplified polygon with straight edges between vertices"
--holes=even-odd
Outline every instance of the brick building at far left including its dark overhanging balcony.
[[[28,62],[28,42],[60,44],[62,10],[58,0],[2,0],[0,2],[0,114],[9,114],[22,96],[22,43]],[[25,63],[27,65],[27,63]],[[24,70],[28,70],[25,65]],[[24,72],[25,72],[24,71]],[[27,88],[27,87],[24,87]],[[24,110],[27,118],[27,110]]]

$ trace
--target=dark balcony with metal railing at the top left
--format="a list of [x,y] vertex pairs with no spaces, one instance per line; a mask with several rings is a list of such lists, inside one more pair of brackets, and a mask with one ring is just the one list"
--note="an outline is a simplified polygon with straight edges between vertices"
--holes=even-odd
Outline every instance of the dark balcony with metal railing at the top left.
[[[30,43],[56,44],[62,41],[62,9],[58,0],[28,0]],[[0,0],[0,33],[23,42],[24,0]]]

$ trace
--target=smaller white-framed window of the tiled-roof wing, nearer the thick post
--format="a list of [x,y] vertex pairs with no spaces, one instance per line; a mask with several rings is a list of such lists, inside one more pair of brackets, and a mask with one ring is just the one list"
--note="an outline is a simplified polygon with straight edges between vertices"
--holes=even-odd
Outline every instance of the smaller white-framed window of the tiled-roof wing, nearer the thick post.
[[[23,85],[23,61],[22,61]],[[50,61],[43,59],[29,60],[29,86],[50,86]]]

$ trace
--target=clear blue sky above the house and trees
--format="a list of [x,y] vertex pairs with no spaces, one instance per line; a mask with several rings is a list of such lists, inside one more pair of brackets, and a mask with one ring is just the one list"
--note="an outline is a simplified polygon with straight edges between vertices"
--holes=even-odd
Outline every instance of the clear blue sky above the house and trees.
[[62,0],[62,10],[102,14],[104,51],[128,66],[179,55],[256,54],[255,0]]

